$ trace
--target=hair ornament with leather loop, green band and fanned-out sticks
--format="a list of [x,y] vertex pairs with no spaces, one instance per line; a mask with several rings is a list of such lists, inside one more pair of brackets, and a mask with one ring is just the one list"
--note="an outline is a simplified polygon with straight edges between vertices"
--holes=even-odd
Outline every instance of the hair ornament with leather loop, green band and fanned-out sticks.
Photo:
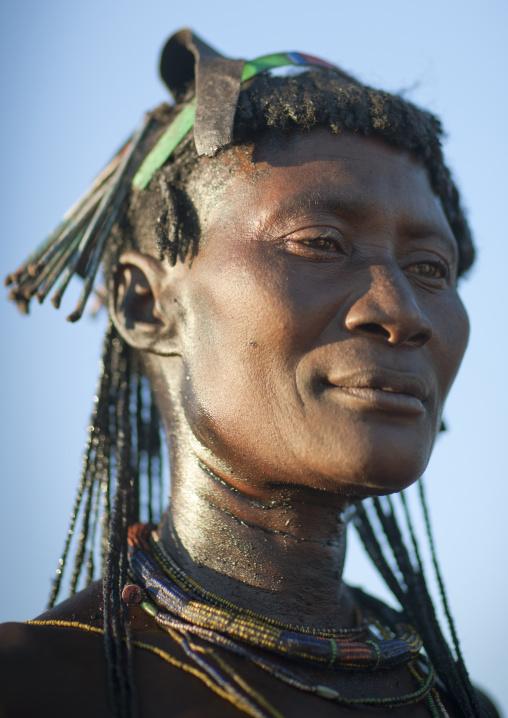
[[169,127],[147,154],[146,140],[158,123],[153,115],[145,116],[138,130],[57,228],[6,277],[5,284],[13,285],[9,299],[28,314],[30,299],[35,296],[42,304],[60,279],[51,297],[58,309],[70,280],[78,274],[85,280],[84,286],[74,311],[67,317],[70,322],[78,321],[131,185],[145,189],[192,129],[198,155],[211,157],[229,145],[242,82],[283,67],[301,67],[302,71],[311,67],[335,69],[324,60],[298,52],[274,53],[250,61],[231,60],[188,28],[172,35],[160,61],[162,80],[177,108],[180,105]]

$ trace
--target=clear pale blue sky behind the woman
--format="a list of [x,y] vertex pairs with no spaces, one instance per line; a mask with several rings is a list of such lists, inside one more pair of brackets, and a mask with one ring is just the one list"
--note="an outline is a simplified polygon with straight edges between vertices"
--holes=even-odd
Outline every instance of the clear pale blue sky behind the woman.
[[[472,324],[426,473],[466,663],[508,706],[508,5],[502,0],[1,0],[0,271],[15,269],[167,99],[158,54],[191,26],[231,57],[298,50],[437,113],[479,249]],[[80,473],[105,318],[0,303],[0,620],[43,609]],[[420,522],[418,522],[420,524]],[[348,578],[385,596],[354,537]]]

